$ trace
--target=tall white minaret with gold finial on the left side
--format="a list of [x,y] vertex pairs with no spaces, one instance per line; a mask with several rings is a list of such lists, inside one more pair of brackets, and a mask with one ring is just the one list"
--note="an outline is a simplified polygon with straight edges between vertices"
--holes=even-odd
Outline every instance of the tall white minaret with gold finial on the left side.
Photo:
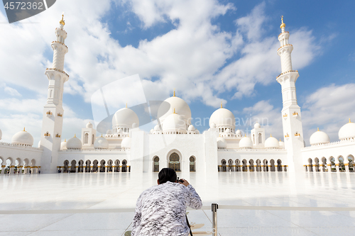
[[56,173],[58,166],[58,151],[62,135],[62,108],[63,86],[68,81],[69,75],[63,71],[64,57],[68,52],[65,45],[67,32],[64,30],[64,16],[60,25],[55,28],[56,40],[52,42],[53,66],[45,70],[49,80],[48,99],[43,110],[43,123],[40,138],[40,147],[43,149],[41,171],[43,173]]

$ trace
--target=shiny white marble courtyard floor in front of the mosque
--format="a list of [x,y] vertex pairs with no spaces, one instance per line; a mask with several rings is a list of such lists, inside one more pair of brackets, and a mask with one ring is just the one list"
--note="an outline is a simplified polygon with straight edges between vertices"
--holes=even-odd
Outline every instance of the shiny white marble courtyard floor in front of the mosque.
[[[179,176],[190,181],[208,208],[188,210],[194,235],[207,235],[212,230],[211,203],[222,208],[286,209],[221,208],[217,212],[219,235],[355,235],[355,211],[351,211],[355,207],[355,173],[219,172]],[[124,235],[130,230],[130,210],[136,199],[156,184],[157,178],[157,174],[148,173],[1,175],[0,235]],[[290,206],[311,209],[287,210]],[[324,207],[332,207],[332,211]],[[88,209],[98,212],[85,211]],[[109,209],[114,213],[108,213]],[[120,209],[129,212],[118,212]],[[28,211],[18,214],[19,210]]]

